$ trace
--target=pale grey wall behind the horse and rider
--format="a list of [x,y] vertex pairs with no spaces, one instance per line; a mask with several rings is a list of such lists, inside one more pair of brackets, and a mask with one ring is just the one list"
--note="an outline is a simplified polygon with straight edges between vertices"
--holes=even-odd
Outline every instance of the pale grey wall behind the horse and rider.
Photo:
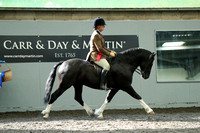
[[[90,35],[91,21],[0,21],[0,35]],[[199,30],[200,21],[108,21],[104,35],[138,35],[139,46],[156,51],[156,30]],[[2,44],[0,44],[2,45]],[[10,63],[13,80],[0,88],[0,112],[42,110],[44,86],[52,63]],[[199,82],[157,83],[156,61],[148,80],[134,74],[133,87],[151,107],[200,106]],[[54,84],[54,89],[58,83]],[[99,107],[107,92],[84,87],[83,99],[92,108]],[[82,107],[67,90],[53,105],[53,110]],[[107,109],[140,108],[128,94],[119,91]]]

